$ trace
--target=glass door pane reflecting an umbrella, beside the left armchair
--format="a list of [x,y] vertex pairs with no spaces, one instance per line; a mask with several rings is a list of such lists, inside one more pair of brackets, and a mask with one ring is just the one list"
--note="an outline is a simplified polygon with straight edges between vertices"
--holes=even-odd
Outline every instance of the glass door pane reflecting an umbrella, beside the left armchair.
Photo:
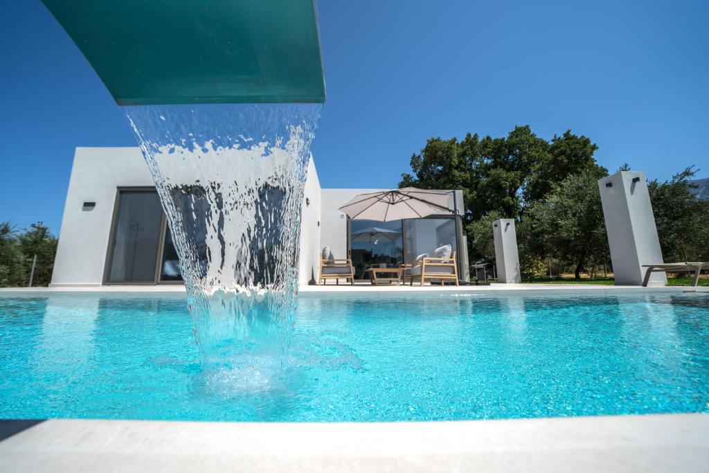
[[354,277],[364,279],[370,267],[398,267],[403,262],[401,221],[350,222],[350,247]]

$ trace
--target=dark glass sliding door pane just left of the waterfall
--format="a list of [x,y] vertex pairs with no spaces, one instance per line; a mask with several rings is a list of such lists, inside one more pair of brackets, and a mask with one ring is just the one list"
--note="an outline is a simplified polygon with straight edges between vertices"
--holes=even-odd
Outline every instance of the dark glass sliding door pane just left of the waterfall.
[[155,191],[121,191],[108,282],[155,282],[162,207]]

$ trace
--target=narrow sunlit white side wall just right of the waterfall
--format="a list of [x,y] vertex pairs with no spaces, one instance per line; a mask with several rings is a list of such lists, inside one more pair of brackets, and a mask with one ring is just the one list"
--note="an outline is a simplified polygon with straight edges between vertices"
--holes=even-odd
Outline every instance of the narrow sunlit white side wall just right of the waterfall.
[[[310,205],[306,204],[310,201]],[[318,277],[320,265],[320,180],[311,156],[308,162],[308,179],[303,192],[301,210],[301,256],[298,262],[298,281],[307,283],[312,274]],[[314,273],[313,273],[314,272]]]

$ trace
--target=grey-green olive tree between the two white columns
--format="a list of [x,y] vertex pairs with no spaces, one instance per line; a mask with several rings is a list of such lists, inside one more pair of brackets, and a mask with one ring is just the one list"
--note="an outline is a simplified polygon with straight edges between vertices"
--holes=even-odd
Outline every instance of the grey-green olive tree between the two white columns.
[[600,169],[587,169],[554,184],[543,201],[527,208],[525,220],[539,246],[537,257],[554,257],[574,267],[576,279],[587,267],[608,260],[598,179]]

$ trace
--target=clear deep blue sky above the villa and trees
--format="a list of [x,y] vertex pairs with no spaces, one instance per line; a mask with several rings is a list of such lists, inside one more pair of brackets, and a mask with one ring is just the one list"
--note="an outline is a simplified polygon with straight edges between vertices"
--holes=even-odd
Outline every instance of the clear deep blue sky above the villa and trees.
[[[709,177],[707,1],[320,0],[323,187],[393,187],[431,136],[571,128],[667,179]],[[39,0],[0,2],[0,221],[58,233],[75,146],[135,145]]]

